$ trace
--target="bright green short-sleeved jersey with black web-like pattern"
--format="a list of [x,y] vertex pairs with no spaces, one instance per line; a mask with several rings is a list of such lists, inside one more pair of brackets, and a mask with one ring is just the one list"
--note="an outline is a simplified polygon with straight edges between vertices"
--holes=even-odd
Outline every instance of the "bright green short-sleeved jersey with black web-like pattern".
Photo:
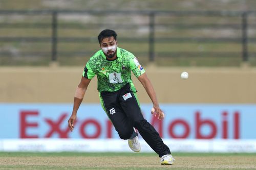
[[131,90],[136,92],[131,79],[131,71],[138,78],[145,70],[137,58],[130,52],[117,47],[117,59],[109,61],[102,50],[90,58],[84,67],[82,76],[92,79],[97,75],[98,91],[117,91],[125,84],[130,83]]

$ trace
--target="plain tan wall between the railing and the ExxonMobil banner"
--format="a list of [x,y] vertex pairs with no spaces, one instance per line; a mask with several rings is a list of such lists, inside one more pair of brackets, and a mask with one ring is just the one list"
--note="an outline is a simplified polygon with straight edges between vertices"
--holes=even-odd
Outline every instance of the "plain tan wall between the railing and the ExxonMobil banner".
[[[256,68],[145,67],[159,103],[256,103]],[[180,73],[189,73],[187,80]],[[1,67],[1,103],[73,103],[83,67]],[[149,103],[133,77],[141,103]],[[83,102],[98,103],[96,77]]]

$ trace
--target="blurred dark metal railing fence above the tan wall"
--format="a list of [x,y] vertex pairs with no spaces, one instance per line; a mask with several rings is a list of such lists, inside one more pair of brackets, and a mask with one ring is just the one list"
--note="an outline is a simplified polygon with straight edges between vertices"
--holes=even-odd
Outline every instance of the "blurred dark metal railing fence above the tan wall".
[[118,33],[136,56],[256,56],[255,11],[0,11],[0,58],[91,56],[98,33]]

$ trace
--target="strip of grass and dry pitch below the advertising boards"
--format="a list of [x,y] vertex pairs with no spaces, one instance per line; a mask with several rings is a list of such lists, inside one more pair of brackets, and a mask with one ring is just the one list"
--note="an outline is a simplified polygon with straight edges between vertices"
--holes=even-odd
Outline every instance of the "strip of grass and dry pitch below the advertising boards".
[[160,165],[155,153],[0,152],[0,169],[256,169],[254,154],[174,153]]

